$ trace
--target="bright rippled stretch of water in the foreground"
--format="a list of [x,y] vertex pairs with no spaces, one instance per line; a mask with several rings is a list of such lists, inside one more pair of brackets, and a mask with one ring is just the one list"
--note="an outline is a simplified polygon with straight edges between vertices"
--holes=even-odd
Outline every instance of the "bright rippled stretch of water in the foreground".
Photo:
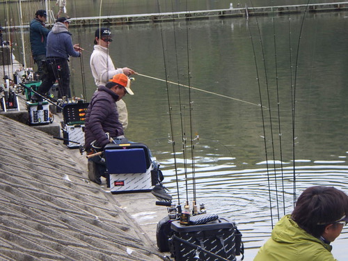
[[[346,156],[331,161],[299,159],[295,161],[260,161],[244,166],[235,164],[236,157],[209,154],[209,146],[198,147],[195,152],[196,196],[198,204],[204,203],[207,211],[227,217],[237,223],[243,234],[245,259],[253,260],[258,248],[271,235],[272,221],[276,224],[284,214],[290,214],[294,203],[294,168],[296,169],[296,196],[303,189],[315,185],[334,186],[347,192],[348,166]],[[210,148],[211,150],[211,148]],[[188,154],[187,154],[188,155]],[[161,152],[161,169],[166,177],[166,187],[178,202],[175,160],[173,153]],[[189,200],[192,200],[191,160],[184,160],[182,153],[176,153],[177,182],[179,184],[180,203],[186,201],[185,164],[188,177]],[[275,166],[275,167],[274,167]],[[268,181],[269,180],[269,181]],[[270,189],[269,189],[270,188]],[[283,193],[284,191],[284,193]],[[270,204],[271,198],[271,204]],[[272,209],[271,212],[270,207]],[[333,254],[343,260],[342,244],[348,243],[348,232],[333,242]]]

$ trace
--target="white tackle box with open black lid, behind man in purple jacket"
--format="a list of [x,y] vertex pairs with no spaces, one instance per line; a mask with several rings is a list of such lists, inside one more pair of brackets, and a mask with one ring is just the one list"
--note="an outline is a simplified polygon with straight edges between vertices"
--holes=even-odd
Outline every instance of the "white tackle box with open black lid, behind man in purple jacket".
[[71,104],[65,104],[63,106],[63,144],[68,148],[79,148],[80,145],[84,145],[84,129],[85,118],[88,103],[77,102]]

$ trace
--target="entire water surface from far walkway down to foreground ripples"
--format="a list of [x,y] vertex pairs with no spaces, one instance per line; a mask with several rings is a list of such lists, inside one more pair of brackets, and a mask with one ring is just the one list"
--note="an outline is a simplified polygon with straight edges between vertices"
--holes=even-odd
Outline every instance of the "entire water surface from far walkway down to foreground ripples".
[[[151,148],[173,196],[179,184],[176,202],[187,194],[192,200],[194,172],[198,203],[237,223],[245,260],[253,260],[272,223],[292,211],[294,191],[329,185],[348,193],[347,17],[111,26],[116,66],[146,76],[135,76],[135,95],[125,97],[127,137]],[[84,78],[90,99],[95,28],[70,31],[86,49],[71,59],[74,93],[82,93]],[[347,244],[344,229],[333,242],[335,258],[346,259]]]

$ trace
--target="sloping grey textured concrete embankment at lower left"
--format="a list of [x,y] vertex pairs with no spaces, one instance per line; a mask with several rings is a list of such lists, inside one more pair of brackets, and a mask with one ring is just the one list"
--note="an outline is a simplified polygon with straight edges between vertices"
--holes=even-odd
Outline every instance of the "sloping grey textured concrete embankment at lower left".
[[0,115],[0,260],[161,260],[74,153]]

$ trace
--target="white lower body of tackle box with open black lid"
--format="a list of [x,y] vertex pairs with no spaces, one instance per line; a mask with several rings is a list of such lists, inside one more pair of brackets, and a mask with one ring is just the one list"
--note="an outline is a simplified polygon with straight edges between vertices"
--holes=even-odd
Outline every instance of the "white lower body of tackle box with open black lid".
[[85,125],[66,125],[63,130],[63,142],[68,148],[79,148],[80,145],[85,143]]

